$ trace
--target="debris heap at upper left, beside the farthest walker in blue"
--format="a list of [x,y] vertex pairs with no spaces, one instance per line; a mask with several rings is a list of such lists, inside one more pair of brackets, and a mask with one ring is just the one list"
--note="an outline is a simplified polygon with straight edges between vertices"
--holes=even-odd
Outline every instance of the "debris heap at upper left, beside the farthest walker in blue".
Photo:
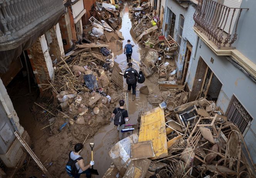
[[123,3],[111,0],[95,4],[95,8],[90,10],[92,17],[89,18],[89,24],[83,26],[83,39],[80,44],[108,44],[108,49],[103,47],[105,51],[102,53],[108,53],[109,50],[120,52],[123,46],[121,40],[124,38],[117,29],[122,23],[120,11]]

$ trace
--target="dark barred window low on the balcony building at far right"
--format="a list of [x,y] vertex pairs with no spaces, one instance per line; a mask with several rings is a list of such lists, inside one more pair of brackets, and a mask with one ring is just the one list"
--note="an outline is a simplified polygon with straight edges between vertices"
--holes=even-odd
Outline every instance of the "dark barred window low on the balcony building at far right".
[[246,109],[244,109],[236,97],[234,97],[232,101],[229,113],[227,114],[227,118],[233,124],[236,124],[241,133],[244,133],[248,124],[253,121],[253,118],[249,115]]

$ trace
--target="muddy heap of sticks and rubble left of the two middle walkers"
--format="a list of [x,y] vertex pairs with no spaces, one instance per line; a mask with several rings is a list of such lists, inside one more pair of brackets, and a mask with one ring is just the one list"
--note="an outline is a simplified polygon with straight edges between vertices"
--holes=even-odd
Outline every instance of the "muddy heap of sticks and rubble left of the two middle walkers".
[[95,52],[99,45],[89,45],[91,48],[82,48],[83,52],[54,67],[55,75],[47,84],[54,98],[52,111],[48,111],[54,116],[49,119],[52,134],[66,129],[81,140],[86,133],[93,136],[101,125],[109,123],[115,104],[123,99],[123,88],[111,82],[110,71],[120,70],[113,55],[103,56]]

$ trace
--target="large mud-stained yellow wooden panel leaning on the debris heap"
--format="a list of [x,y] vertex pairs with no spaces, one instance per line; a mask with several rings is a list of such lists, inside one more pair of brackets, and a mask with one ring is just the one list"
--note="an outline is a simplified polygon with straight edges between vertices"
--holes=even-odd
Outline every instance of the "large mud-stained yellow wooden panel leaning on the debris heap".
[[152,141],[155,160],[168,155],[165,115],[163,109],[157,107],[141,116],[140,134],[138,141]]

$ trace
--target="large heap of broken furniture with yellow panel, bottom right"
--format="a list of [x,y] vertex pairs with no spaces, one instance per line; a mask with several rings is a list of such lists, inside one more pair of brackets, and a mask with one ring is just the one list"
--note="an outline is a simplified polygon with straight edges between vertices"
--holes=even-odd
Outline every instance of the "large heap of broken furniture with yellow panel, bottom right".
[[103,178],[255,177],[241,132],[213,101],[165,110],[142,113],[139,135],[112,147]]

